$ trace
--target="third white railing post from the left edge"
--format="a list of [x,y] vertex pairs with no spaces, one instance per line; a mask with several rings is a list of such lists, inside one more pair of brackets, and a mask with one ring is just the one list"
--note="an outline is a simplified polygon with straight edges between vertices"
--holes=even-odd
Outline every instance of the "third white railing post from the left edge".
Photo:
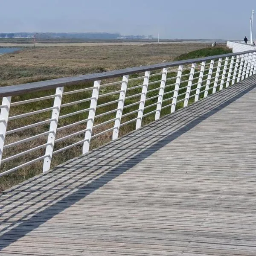
[[92,137],[93,133],[93,122],[94,122],[94,116],[96,113],[96,108],[97,108],[97,101],[98,101],[98,96],[99,96],[99,87],[100,87],[100,80],[94,81],[93,84],[93,93],[92,93],[92,98],[90,102],[90,111],[88,114],[88,121],[86,125],[87,131],[85,132],[84,136],[84,145],[83,145],[83,151],[82,153],[85,154],[89,151],[90,148],[90,140]]

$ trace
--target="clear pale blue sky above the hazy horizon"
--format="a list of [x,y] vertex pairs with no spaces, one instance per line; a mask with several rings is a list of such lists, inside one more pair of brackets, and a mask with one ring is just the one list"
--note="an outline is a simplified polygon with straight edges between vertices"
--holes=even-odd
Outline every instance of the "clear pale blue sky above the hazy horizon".
[[[1,0],[0,32],[120,32],[160,38],[250,37],[256,0]],[[256,36],[256,13],[254,15]]]

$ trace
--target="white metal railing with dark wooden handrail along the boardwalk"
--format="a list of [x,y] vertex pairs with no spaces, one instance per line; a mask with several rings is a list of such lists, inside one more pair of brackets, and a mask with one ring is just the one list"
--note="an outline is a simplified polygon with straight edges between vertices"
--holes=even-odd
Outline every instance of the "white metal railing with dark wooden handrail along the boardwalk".
[[1,87],[0,177],[36,162],[45,172],[56,154],[85,154],[255,74],[256,49]]

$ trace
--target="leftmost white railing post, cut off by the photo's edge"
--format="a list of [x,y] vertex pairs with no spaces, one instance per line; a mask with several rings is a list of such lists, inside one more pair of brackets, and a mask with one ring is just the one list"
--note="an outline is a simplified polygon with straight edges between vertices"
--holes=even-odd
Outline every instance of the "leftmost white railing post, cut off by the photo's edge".
[[3,97],[3,100],[2,100],[3,108],[1,108],[1,113],[0,113],[0,164],[3,156],[3,146],[4,146],[4,140],[6,137],[6,129],[7,129],[9,111],[11,106],[11,100],[12,100],[11,96]]

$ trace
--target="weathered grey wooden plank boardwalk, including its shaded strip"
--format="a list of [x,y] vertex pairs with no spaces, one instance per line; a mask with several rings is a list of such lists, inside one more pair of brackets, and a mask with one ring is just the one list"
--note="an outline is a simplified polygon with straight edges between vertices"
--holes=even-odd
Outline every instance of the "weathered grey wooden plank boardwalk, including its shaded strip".
[[256,76],[1,193],[0,255],[255,256]]

